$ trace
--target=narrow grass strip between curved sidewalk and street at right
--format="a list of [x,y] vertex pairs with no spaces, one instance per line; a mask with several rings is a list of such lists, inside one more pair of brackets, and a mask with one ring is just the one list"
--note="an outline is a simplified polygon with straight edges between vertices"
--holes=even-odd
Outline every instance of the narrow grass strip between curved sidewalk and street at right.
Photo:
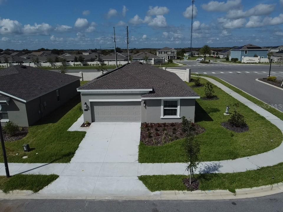
[[[238,94],[240,94],[241,96],[247,98],[248,100],[250,100],[251,102],[254,102],[257,105],[264,105],[264,102],[250,96],[249,94],[246,94],[245,92],[239,90],[238,88],[234,87],[233,85],[230,85],[226,82],[224,82],[223,80],[217,78],[217,77],[213,77],[213,76],[209,76],[209,75],[204,75],[204,74],[199,74],[200,76],[203,77],[210,77],[214,80],[216,80],[217,82],[222,83],[223,85],[225,85],[226,87],[230,88],[231,90],[237,92]],[[265,107],[265,110],[267,110],[268,112],[272,113],[273,115],[277,116],[278,118],[280,118],[281,120],[283,120],[283,112],[274,109],[273,107]]]

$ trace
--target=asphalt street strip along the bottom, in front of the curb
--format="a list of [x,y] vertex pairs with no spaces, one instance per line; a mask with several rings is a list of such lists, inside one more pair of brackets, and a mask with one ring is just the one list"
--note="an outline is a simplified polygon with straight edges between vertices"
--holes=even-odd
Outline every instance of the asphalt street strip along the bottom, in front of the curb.
[[0,200],[1,212],[261,212],[283,211],[283,193],[235,200]]

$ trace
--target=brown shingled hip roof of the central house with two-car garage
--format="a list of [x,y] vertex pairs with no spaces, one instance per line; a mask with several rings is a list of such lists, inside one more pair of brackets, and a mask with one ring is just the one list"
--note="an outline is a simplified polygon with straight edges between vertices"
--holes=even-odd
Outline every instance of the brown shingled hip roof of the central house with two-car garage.
[[79,87],[78,91],[136,89],[152,90],[142,95],[143,98],[199,97],[175,73],[139,61],[109,71]]

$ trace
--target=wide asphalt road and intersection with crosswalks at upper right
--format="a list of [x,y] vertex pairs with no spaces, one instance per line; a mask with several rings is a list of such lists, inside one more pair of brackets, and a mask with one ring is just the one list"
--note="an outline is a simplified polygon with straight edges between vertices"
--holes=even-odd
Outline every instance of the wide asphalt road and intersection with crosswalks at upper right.
[[[200,64],[196,61],[182,63],[188,66],[174,69],[190,68],[192,73],[218,77],[283,112],[283,90],[256,81],[257,78],[268,77],[269,65]],[[283,80],[283,65],[272,64],[271,76]]]

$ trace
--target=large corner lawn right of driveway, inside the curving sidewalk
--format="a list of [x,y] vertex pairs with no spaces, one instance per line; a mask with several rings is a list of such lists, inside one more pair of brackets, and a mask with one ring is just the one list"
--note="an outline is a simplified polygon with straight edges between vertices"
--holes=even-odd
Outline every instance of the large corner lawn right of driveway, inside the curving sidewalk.
[[[205,84],[207,82],[201,79]],[[188,83],[192,85],[192,83]],[[201,97],[205,87],[193,88]],[[202,161],[236,159],[256,155],[279,146],[282,142],[282,133],[264,117],[260,116],[247,106],[214,86],[215,95],[219,100],[196,100],[195,122],[206,131],[195,139],[200,141],[200,158]],[[249,126],[248,132],[236,133],[221,126],[229,119],[224,116],[226,105],[238,103],[237,111],[244,115]],[[139,145],[140,163],[183,163],[186,162],[184,140],[176,140],[163,146]]]

